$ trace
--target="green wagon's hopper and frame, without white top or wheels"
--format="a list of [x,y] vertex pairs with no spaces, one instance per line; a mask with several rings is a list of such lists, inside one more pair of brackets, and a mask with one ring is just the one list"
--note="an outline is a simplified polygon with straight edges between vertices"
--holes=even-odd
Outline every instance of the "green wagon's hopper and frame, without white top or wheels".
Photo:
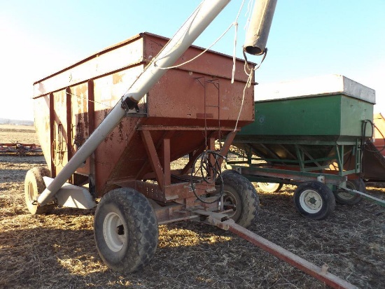
[[249,181],[319,179],[335,190],[349,175],[362,178],[362,146],[372,136],[372,119],[371,101],[339,93],[255,101],[255,121],[233,141],[247,161],[229,163]]

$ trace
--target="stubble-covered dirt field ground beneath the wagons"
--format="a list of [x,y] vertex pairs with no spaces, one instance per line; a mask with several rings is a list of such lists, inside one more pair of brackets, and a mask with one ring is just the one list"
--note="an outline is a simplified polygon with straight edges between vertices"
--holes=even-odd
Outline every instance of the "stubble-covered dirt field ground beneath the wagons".
[[[0,126],[0,143],[12,141],[38,143],[31,127]],[[160,226],[143,271],[112,272],[94,246],[94,210],[28,213],[25,174],[45,165],[42,155],[0,155],[0,288],[328,288],[230,232],[189,222]],[[250,230],[358,288],[385,288],[385,209],[337,204],[330,218],[308,220],[295,211],[293,189],[259,192]],[[367,192],[385,199],[385,184]]]

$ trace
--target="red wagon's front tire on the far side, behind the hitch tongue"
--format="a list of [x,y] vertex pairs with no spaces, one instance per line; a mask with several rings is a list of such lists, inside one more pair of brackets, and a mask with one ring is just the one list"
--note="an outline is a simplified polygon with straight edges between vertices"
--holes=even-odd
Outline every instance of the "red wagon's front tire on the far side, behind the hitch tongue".
[[228,170],[222,174],[224,209],[234,209],[230,214],[235,223],[242,227],[250,226],[258,215],[259,197],[247,178],[236,171]]

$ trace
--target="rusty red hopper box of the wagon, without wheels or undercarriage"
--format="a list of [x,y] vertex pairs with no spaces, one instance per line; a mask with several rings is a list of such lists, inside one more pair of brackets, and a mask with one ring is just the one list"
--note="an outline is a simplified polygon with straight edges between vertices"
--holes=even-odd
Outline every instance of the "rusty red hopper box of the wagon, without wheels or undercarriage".
[[[167,41],[154,34],[138,34],[34,83],[36,132],[53,176]],[[191,46],[176,64],[202,50]],[[197,151],[208,148],[209,142],[213,146],[214,139],[234,129],[248,78],[244,61],[236,62],[233,84],[232,57],[218,52],[208,51],[181,68],[169,69],[141,100],[139,113],[127,115],[70,181],[93,176],[99,197],[120,181],[151,174],[167,187],[171,183],[169,162],[199,155]],[[250,87],[239,127],[253,118]]]

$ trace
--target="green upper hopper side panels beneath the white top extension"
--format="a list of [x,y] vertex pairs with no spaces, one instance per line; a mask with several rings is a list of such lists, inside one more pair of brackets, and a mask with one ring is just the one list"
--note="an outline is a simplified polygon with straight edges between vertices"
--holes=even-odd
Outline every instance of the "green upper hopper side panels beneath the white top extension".
[[373,104],[344,94],[255,101],[255,121],[237,138],[355,141],[372,118]]

